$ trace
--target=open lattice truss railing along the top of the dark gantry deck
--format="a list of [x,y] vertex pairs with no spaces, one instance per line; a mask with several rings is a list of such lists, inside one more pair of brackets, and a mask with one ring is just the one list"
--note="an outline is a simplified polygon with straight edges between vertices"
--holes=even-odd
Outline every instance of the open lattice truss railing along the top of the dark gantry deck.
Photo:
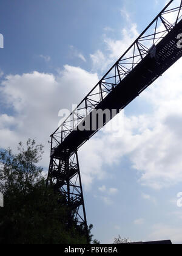
[[[58,130],[53,133],[55,146],[62,143],[65,138],[84,121],[87,115],[94,110],[113,88],[146,57],[149,52],[155,54],[155,46],[174,29],[181,20],[181,4],[174,9],[165,9],[152,21],[144,32],[136,39],[121,58],[109,69],[105,76],[99,80],[86,98],[81,101],[71,115],[61,124]],[[167,9],[167,10],[166,10]],[[166,51],[170,51],[170,45],[166,46]],[[161,52],[163,55],[163,52]]]

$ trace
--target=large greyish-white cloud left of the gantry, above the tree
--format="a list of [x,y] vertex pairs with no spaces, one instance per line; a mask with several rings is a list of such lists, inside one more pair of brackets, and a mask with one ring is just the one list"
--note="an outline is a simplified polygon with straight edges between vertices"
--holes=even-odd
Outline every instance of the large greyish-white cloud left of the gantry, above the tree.
[[[0,115],[0,148],[10,146],[16,150],[19,141],[35,138],[45,146],[42,165],[48,168],[50,144],[47,141],[58,127],[59,110],[72,108],[73,102],[79,103],[97,81],[96,74],[69,65],[64,66],[58,76],[35,71],[5,77],[0,86],[1,102],[13,108],[15,114]],[[85,168],[84,173],[86,187],[99,176],[96,168],[95,172],[88,173]]]

